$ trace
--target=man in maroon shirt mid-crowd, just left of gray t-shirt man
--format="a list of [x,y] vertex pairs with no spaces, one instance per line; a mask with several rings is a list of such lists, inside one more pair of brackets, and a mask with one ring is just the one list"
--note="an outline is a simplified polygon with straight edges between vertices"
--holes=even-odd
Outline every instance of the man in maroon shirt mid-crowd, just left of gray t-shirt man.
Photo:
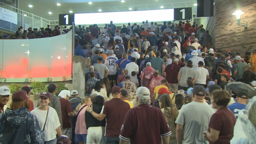
[[170,88],[171,85],[174,85],[175,88],[178,90],[178,73],[180,71],[179,66],[179,59],[175,58],[172,62],[172,64],[167,65],[167,67],[164,70],[164,77],[168,81]]

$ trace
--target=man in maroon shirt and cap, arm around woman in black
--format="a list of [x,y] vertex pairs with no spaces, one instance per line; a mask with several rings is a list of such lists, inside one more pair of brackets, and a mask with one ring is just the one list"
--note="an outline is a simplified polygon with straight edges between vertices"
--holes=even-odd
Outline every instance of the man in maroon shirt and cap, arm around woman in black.
[[127,111],[130,109],[130,105],[120,99],[120,87],[112,87],[112,96],[113,99],[104,103],[100,114],[94,112],[92,106],[88,107],[87,111],[99,121],[102,121],[106,117],[106,143],[119,144],[121,126]]

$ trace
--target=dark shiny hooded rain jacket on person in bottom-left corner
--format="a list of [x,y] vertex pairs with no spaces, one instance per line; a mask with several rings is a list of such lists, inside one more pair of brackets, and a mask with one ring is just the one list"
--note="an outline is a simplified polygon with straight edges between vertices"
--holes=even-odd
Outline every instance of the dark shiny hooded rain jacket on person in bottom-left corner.
[[6,109],[0,115],[1,144],[43,144],[44,133],[27,108]]

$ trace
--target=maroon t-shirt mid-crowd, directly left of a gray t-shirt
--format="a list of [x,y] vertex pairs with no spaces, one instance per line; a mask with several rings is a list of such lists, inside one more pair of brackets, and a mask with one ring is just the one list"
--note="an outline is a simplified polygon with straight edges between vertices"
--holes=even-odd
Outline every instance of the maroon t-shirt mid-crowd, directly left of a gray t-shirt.
[[166,72],[166,80],[168,83],[177,84],[178,83],[178,73],[180,71],[180,66],[176,63],[167,65],[164,72]]

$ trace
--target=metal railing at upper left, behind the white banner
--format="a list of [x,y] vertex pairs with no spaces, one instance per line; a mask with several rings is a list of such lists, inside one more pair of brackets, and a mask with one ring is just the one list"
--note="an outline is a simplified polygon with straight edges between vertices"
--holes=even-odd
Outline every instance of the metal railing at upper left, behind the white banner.
[[50,21],[1,2],[0,7],[16,12],[18,14],[17,25],[11,22],[0,20],[0,30],[15,33],[20,26],[23,26],[24,29],[28,29],[29,27],[39,29],[41,27],[47,28],[47,25],[50,25],[50,28],[54,29],[54,27],[59,24],[59,21]]

